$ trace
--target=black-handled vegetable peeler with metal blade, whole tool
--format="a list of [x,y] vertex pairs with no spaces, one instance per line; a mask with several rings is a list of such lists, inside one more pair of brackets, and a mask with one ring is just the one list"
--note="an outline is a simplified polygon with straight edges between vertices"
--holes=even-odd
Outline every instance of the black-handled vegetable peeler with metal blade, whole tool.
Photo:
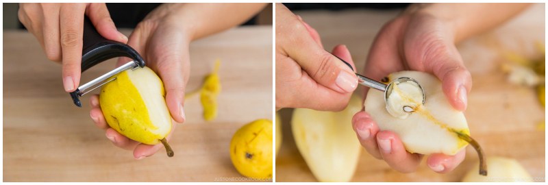
[[121,73],[128,69],[138,69],[145,67],[145,60],[129,45],[125,45],[122,42],[116,42],[114,40],[108,40],[101,36],[95,26],[91,23],[87,16],[84,16],[84,45],[82,47],[82,73],[92,66],[99,64],[105,60],[116,57],[131,58],[132,62],[127,62],[118,68],[93,79],[92,81],[79,86],[75,91],[69,93],[76,106],[82,107],[82,102],[79,97],[82,97],[86,93],[99,88],[110,81],[106,81],[108,78]]

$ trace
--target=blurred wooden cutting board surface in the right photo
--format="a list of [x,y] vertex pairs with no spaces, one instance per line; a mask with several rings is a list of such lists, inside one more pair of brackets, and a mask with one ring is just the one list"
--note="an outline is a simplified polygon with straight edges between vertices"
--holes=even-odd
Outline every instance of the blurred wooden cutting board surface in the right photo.
[[[337,44],[347,45],[358,69],[363,69],[366,55],[378,30],[397,16],[400,10],[347,10],[339,12],[295,12],[320,34],[328,51]],[[538,182],[545,182],[545,130],[538,129],[545,120],[545,108],[532,88],[509,84],[499,71],[508,51],[523,56],[538,56],[535,42],[545,40],[545,5],[533,5],[526,12],[481,36],[462,42],[458,49],[473,77],[466,119],[472,136],[488,156],[518,160]],[[366,75],[366,74],[365,74]],[[362,95],[358,92],[358,95]],[[291,109],[282,109],[283,143],[276,159],[276,182],[315,182],[316,178],[300,155],[290,129]],[[346,125],[343,125],[346,124]],[[341,123],[351,127],[351,123]],[[383,160],[364,149],[353,182],[459,182],[477,162],[477,154],[466,148],[466,159],[447,174],[430,170],[425,160],[415,173],[399,173]]]

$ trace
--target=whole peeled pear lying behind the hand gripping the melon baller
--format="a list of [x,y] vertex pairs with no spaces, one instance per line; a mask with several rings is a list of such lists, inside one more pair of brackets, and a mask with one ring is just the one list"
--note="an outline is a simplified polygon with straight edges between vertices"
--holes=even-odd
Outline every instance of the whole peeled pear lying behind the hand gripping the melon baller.
[[352,116],[362,109],[361,99],[352,96],[340,112],[297,108],[291,127],[297,149],[320,182],[349,182],[362,149],[352,130]]

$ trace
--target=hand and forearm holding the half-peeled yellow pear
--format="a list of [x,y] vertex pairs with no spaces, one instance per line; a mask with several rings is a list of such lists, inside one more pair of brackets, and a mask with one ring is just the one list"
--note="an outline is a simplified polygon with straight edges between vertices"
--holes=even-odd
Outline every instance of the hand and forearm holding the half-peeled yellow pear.
[[[140,22],[127,44],[147,61],[164,82],[166,103],[171,117],[184,123],[184,94],[190,76],[189,44],[191,40],[234,27],[264,8],[266,3],[164,3]],[[235,12],[235,10],[238,10]],[[118,66],[128,60],[121,58]],[[133,149],[134,158],[152,156],[162,145],[144,145],[122,136],[108,127],[99,107],[99,97],[90,99],[90,116],[105,130],[114,145]],[[166,140],[170,140],[175,125]]]

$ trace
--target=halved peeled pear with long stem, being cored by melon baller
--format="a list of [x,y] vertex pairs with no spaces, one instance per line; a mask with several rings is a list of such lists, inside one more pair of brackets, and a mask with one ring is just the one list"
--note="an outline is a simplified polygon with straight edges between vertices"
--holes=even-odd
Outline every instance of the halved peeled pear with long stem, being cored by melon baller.
[[[388,75],[388,82],[398,77],[411,77],[424,89],[425,103],[417,102],[416,93],[410,90],[412,86],[406,86],[401,90],[393,90],[398,93],[398,99],[390,99],[394,105],[412,105],[412,112],[406,116],[393,116],[387,111],[384,102],[384,92],[369,90],[364,103],[365,110],[377,123],[380,130],[390,130],[398,134],[407,151],[411,153],[445,153],[453,156],[458,151],[471,143],[479,154],[484,164],[481,147],[469,135],[470,131],[464,114],[455,110],[442,90],[440,80],[434,75],[419,71],[401,71]],[[409,90],[405,90],[409,89]],[[408,93],[410,91],[410,93]],[[422,98],[421,98],[422,99]],[[403,107],[388,107],[401,110]],[[402,118],[403,117],[403,118]],[[480,173],[486,174],[485,167],[480,168]]]

